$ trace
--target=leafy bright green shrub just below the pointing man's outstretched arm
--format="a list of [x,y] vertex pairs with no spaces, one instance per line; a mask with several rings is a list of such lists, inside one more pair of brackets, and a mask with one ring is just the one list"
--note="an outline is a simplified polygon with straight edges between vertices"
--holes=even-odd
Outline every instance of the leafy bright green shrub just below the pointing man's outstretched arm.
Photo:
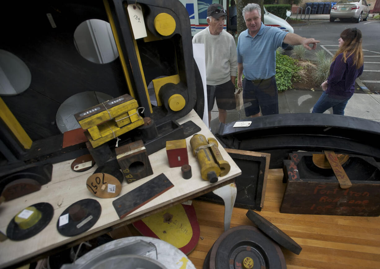
[[298,60],[287,55],[276,53],[276,83],[279,91],[286,91],[292,87],[292,81],[299,80],[301,70],[296,63]]

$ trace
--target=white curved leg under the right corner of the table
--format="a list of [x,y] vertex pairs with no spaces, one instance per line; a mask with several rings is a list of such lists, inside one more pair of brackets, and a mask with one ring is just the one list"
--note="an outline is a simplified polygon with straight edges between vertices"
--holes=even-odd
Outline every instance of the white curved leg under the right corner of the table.
[[220,187],[219,189],[214,190],[213,193],[221,197],[224,201],[224,231],[227,231],[230,229],[232,209],[234,208],[236,199],[235,182]]

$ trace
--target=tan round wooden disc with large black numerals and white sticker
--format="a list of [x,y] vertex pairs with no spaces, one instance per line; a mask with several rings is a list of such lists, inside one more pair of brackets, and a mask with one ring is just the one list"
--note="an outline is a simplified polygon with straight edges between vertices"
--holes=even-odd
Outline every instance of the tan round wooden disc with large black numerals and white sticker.
[[121,192],[120,181],[106,173],[95,173],[86,181],[87,189],[100,198],[114,198]]

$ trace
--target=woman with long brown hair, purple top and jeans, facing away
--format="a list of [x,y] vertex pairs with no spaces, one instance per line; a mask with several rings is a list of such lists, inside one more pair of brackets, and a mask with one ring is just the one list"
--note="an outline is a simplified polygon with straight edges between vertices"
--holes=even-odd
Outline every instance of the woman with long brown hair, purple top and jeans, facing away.
[[344,115],[348,100],[354,94],[355,80],[363,73],[361,31],[348,28],[340,34],[339,49],[332,58],[328,79],[321,84],[323,93],[312,113],[323,113],[332,107],[334,114]]

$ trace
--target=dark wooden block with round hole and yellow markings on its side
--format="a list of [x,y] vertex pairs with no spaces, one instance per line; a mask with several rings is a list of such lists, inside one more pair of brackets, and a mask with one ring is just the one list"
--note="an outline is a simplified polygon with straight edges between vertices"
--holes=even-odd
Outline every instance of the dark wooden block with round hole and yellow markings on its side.
[[116,159],[127,183],[152,175],[152,166],[142,140],[115,148]]

